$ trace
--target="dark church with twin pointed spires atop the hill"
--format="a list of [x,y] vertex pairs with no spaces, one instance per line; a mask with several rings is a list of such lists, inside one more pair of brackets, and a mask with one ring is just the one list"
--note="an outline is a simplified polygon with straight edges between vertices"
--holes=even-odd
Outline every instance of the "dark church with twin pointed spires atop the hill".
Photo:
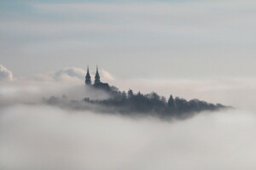
[[101,77],[98,71],[98,66],[96,66],[96,75],[95,75],[95,79],[94,79],[94,84],[92,84],[91,80],[90,80],[90,71],[89,71],[89,66],[87,67],[87,73],[85,76],[85,86],[90,86],[93,88],[100,88],[106,91],[110,91],[110,87],[108,85],[108,83],[104,83],[101,82]]

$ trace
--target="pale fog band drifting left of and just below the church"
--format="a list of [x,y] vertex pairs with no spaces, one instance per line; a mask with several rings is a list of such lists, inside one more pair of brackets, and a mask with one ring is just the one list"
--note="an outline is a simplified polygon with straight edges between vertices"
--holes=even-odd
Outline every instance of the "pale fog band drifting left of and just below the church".
[[91,89],[81,83],[15,81],[1,82],[0,106],[35,104],[51,96],[61,98],[63,95],[69,100],[82,100],[84,97],[108,99],[108,94],[102,90]]

